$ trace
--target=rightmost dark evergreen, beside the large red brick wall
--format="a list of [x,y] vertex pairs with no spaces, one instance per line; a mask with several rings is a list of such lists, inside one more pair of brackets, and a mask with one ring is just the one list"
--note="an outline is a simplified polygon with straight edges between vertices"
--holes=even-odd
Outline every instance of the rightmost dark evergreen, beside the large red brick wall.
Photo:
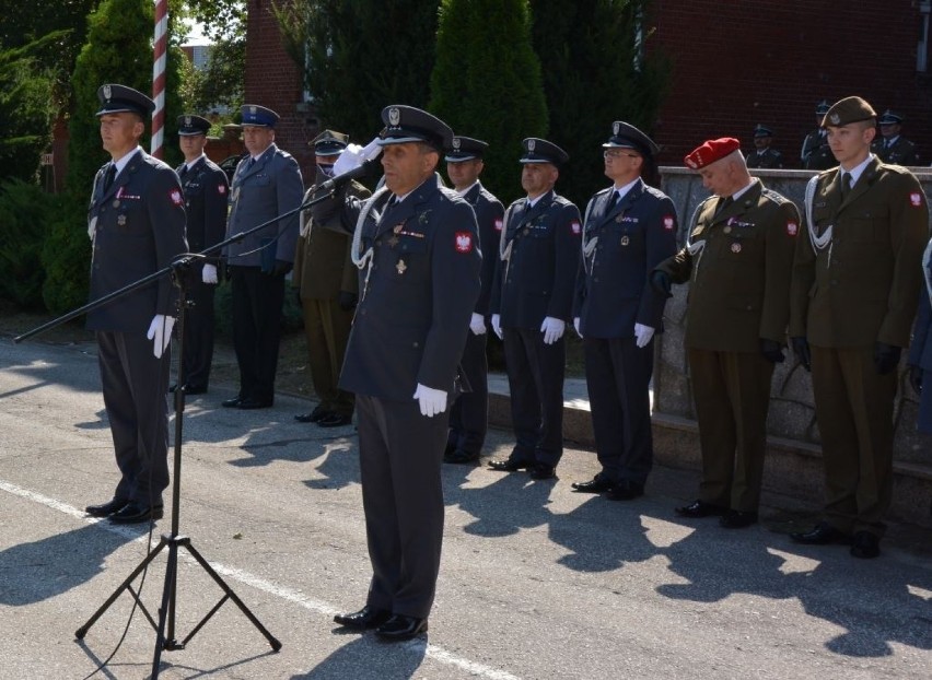
[[668,67],[662,55],[640,59],[637,39],[645,0],[531,0],[534,48],[550,112],[550,138],[570,153],[557,190],[580,209],[608,184],[602,143],[611,121],[651,134]]

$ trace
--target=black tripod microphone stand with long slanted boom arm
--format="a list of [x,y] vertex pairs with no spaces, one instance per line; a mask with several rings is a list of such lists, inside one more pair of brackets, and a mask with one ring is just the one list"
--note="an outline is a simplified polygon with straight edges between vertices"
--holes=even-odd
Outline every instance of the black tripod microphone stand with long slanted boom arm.
[[[360,173],[352,173],[354,177],[360,176]],[[132,573],[120,584],[120,586],[114,590],[114,593],[107,598],[107,600],[93,613],[93,615],[79,628],[74,636],[78,640],[83,640],[84,635],[91,629],[91,626],[101,618],[101,615],[113,605],[117,598],[123,594],[124,590],[128,590],[132,599],[139,605],[139,608],[142,610],[142,613],[145,615],[149,623],[156,632],[155,637],[155,652],[152,658],[152,680],[156,680],[159,678],[159,665],[162,657],[162,649],[174,650],[174,649],[184,649],[188,642],[197,634],[197,632],[203,626],[207,621],[213,617],[214,613],[223,606],[226,600],[232,600],[236,607],[245,614],[245,617],[253,623],[254,626],[266,637],[269,642],[273,652],[278,652],[281,649],[281,643],[269,633],[266,628],[259,622],[256,615],[243,603],[233,589],[223,581],[223,578],[210,566],[207,560],[195,549],[191,544],[191,539],[187,536],[183,536],[178,532],[179,525],[179,516],[180,516],[180,489],[182,489],[182,430],[184,424],[184,411],[185,411],[185,392],[183,386],[185,385],[185,365],[184,365],[184,348],[185,348],[185,316],[187,310],[187,278],[189,275],[190,265],[198,259],[203,258],[207,255],[211,255],[213,253],[220,251],[224,246],[242,241],[249,234],[258,232],[270,224],[279,222],[280,220],[284,220],[286,218],[290,218],[291,215],[310,208],[321,201],[333,197],[337,189],[343,184],[343,181],[348,181],[353,177],[350,177],[351,173],[345,173],[343,175],[339,175],[331,184],[327,187],[321,187],[319,189],[324,190],[324,194],[315,194],[306,201],[302,202],[301,206],[295,208],[294,210],[290,210],[286,213],[282,213],[267,222],[263,222],[261,224],[254,226],[245,232],[241,232],[218,243],[214,246],[211,246],[199,254],[186,254],[177,257],[171,265],[167,267],[160,269],[138,281],[130,283],[113,293],[108,293],[103,297],[100,297],[83,307],[79,307],[65,314],[47,324],[38,326],[21,336],[13,338],[13,342],[22,342],[27,338],[32,338],[40,332],[55,328],[66,321],[69,321],[82,314],[91,312],[92,309],[96,309],[117,297],[121,297],[127,293],[135,291],[136,289],[151,283],[158,279],[166,274],[172,275],[172,282],[178,289],[178,343],[179,343],[179,360],[178,360],[178,371],[177,371],[177,382],[176,385],[178,388],[174,392],[175,397],[175,444],[174,444],[174,476],[173,476],[173,485],[172,485],[172,529],[171,534],[163,534],[161,540],[159,541],[159,546],[152,550],[142,562],[132,571]],[[313,187],[312,187],[313,189]],[[168,549],[168,560],[167,565],[165,567],[165,583],[162,589],[162,606],[159,609],[159,621],[153,619],[153,617],[145,609],[145,606],[142,603],[140,599],[140,591],[137,591],[132,588],[132,582],[139,576],[140,573],[162,552],[163,549]],[[194,626],[188,635],[182,640],[177,641],[175,637],[175,614],[176,614],[176,598],[177,598],[177,579],[178,579],[178,548],[184,548],[187,550],[190,555],[197,561],[197,563],[203,568],[205,572],[217,583],[218,586],[223,590],[224,595],[217,602],[210,611],[198,622],[197,625]]]

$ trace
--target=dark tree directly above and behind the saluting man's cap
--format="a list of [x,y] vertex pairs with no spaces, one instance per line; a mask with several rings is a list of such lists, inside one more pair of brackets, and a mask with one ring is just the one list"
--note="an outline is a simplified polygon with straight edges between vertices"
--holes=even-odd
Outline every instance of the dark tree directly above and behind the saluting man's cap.
[[426,108],[438,2],[284,0],[276,7],[286,49],[325,127],[365,144],[389,104]]

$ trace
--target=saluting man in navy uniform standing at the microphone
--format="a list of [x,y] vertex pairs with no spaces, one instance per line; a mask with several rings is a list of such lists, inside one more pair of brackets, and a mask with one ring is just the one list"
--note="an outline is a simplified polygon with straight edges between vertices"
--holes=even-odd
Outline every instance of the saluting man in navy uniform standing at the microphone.
[[360,300],[339,382],[356,394],[373,574],[365,607],[335,621],[398,641],[428,630],[433,605],[440,468],[481,256],[473,209],[435,174],[453,131],[409,106],[382,120],[385,186],[357,220]]

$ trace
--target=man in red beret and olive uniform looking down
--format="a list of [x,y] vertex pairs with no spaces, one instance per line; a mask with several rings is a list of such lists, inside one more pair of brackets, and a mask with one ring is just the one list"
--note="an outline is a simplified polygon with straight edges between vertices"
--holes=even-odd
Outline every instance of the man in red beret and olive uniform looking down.
[[686,156],[713,196],[700,203],[686,247],[651,283],[690,282],[686,351],[699,421],[699,499],[680,517],[757,521],[773,366],[783,361],[800,212],[747,172],[739,142],[704,142]]

